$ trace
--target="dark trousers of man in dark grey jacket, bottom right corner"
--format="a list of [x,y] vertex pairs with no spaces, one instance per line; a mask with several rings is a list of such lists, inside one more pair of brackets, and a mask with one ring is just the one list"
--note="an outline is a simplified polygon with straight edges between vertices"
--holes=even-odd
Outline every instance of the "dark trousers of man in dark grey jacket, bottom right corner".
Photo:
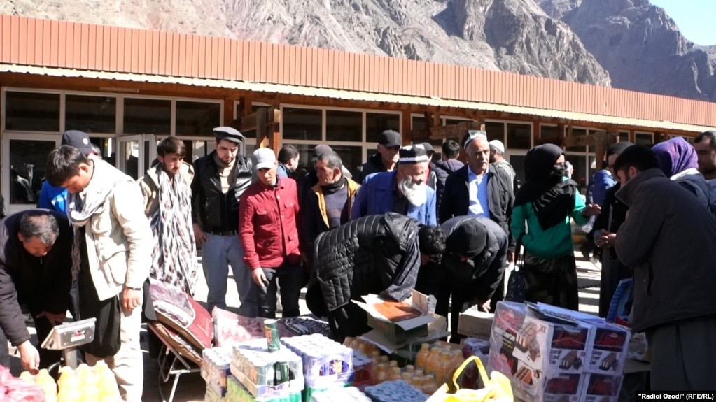
[[716,391],[716,315],[647,330],[652,391]]

